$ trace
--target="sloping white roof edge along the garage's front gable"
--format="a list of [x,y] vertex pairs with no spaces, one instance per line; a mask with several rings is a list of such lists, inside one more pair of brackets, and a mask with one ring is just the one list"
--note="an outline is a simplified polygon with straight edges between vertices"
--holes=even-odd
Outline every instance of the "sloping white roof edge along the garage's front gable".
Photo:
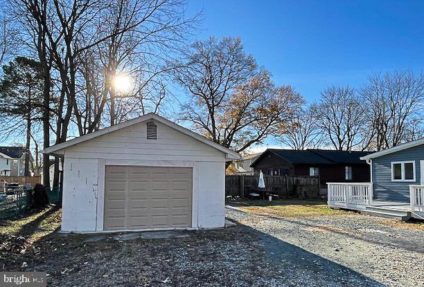
[[218,145],[216,142],[205,138],[204,136],[200,136],[200,134],[195,133],[185,127],[180,126],[179,124],[175,124],[175,122],[171,122],[166,118],[157,115],[156,113],[147,113],[145,115],[141,115],[139,118],[134,118],[132,120],[127,120],[126,122],[121,122],[120,124],[115,124],[112,127],[107,127],[105,129],[100,129],[99,131],[95,131],[94,133],[88,133],[87,135],[80,136],[78,138],[73,138],[72,140],[67,140],[66,142],[62,142],[58,145],[53,145],[52,147],[47,147],[42,151],[43,154],[55,154],[56,151],[60,151],[61,149],[66,149],[67,147],[71,147],[73,145],[78,145],[81,142],[85,142],[87,140],[91,140],[93,138],[97,138],[98,136],[103,136],[107,133],[112,133],[113,131],[118,131],[120,129],[124,129],[125,127],[130,127],[134,124],[139,124],[141,122],[145,122],[146,120],[157,120],[162,124],[166,124],[168,127],[176,129],[187,136],[191,136],[195,140],[199,140],[214,149],[218,149],[218,151],[222,151],[226,154],[226,157],[231,160],[238,160],[241,158],[240,154],[236,153],[236,151],[232,151],[231,149],[227,149],[227,147],[222,147],[222,145]]

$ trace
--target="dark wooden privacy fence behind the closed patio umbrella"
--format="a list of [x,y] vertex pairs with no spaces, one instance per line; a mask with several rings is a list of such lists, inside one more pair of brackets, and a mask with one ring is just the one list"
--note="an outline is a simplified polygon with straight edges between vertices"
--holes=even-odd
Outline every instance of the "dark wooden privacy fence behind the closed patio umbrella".
[[[258,180],[259,176],[225,176],[225,196],[247,198],[250,192],[258,190]],[[320,195],[318,176],[264,176],[264,180],[265,189],[281,198]]]

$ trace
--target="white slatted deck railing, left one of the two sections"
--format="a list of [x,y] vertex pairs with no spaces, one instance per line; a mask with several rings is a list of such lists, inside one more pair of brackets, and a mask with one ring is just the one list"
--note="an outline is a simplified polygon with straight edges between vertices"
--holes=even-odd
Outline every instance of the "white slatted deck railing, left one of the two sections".
[[371,205],[372,183],[327,183],[328,205]]

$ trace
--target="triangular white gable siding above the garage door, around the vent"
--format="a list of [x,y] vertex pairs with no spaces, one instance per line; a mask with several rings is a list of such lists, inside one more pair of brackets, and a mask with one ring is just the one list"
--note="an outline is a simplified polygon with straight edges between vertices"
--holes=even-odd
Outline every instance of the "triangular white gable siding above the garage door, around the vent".
[[195,160],[222,162],[225,155],[184,133],[155,122],[157,140],[148,140],[146,122],[65,149],[67,158]]

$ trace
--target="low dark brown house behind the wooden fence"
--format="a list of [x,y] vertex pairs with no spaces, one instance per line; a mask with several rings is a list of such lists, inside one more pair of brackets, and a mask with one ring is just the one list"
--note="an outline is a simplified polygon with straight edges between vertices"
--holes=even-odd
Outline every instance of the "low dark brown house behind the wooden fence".
[[326,183],[369,182],[369,165],[361,156],[368,151],[332,151],[326,149],[267,149],[251,164],[255,174],[269,176],[319,176]]

